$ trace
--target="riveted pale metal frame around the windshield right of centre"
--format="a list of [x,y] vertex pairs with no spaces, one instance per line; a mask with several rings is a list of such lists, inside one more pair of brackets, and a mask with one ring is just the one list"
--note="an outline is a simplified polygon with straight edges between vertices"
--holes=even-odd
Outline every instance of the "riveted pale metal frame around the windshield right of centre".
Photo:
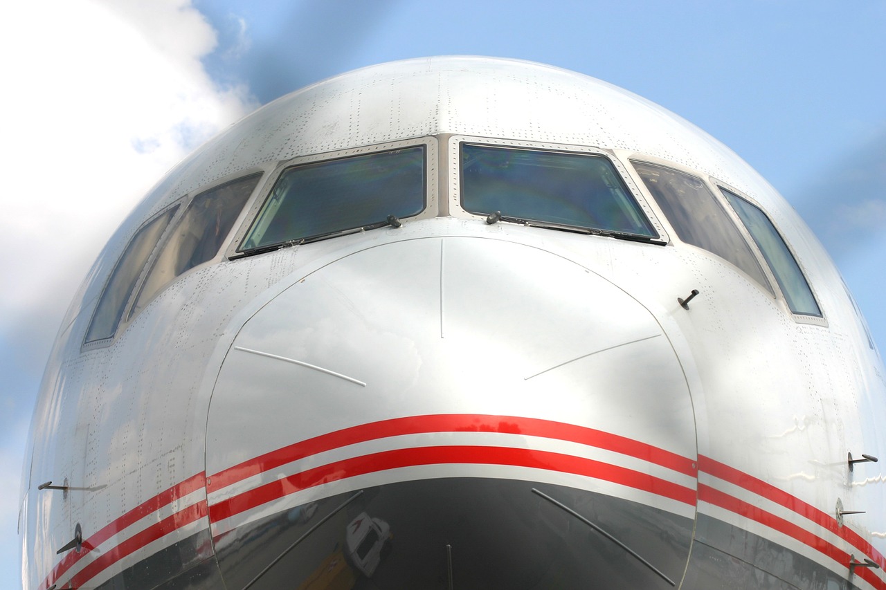
[[[572,144],[548,144],[545,142],[533,142],[517,139],[502,139],[494,137],[479,136],[449,136],[447,140],[448,155],[448,213],[452,217],[462,219],[486,220],[486,214],[471,213],[462,207],[462,161],[461,161],[461,145],[489,145],[499,148],[512,148],[515,150],[531,150],[531,151],[553,151],[567,154],[586,154],[607,159],[621,181],[625,183],[628,193],[640,206],[641,212],[646,215],[652,229],[657,232],[657,237],[650,238],[650,244],[668,245],[671,242],[667,230],[660,221],[658,221],[657,213],[649,206],[648,199],[643,195],[641,190],[637,188],[637,184],[633,177],[628,174],[626,167],[621,160],[616,157],[612,151],[602,150],[586,145]],[[638,243],[643,243],[639,241]]]

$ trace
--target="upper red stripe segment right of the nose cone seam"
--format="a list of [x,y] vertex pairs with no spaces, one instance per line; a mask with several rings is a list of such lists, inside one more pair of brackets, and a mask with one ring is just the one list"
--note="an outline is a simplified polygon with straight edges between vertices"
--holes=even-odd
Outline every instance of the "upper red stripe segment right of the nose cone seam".
[[813,523],[833,532],[841,539],[850,543],[853,547],[858,548],[859,551],[868,555],[874,560],[874,562],[879,563],[881,568],[886,568],[886,559],[883,558],[883,555],[877,551],[873,545],[868,543],[867,540],[861,537],[859,533],[852,531],[848,526],[840,526],[833,515],[829,515],[827,512],[815,508],[812,504],[808,504],[796,496],[792,496],[789,493],[780,490],[774,485],[767,484],[758,477],[750,476],[747,473],[729,467],[724,463],[714,461],[710,457],[699,455],[698,465],[699,469],[705,473],[709,473],[714,477],[729,482],[730,484],[743,487],[749,492],[756,493],[758,496],[766,498],[766,500],[773,501],[784,508],[796,512],[800,516],[804,516],[804,518],[807,518]]

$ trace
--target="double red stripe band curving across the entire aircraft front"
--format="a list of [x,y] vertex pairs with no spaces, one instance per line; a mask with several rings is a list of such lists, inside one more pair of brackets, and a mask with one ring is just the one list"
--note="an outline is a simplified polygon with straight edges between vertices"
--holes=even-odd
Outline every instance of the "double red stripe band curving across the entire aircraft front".
[[[761,498],[789,509],[799,516],[803,516],[813,524],[820,525],[828,532],[845,540],[851,547],[859,549],[859,555],[867,555],[873,558],[876,563],[886,567],[886,560],[884,560],[883,555],[874,549],[870,542],[863,539],[849,527],[839,526],[834,516],[773,485],[767,484],[758,477],[750,476],[710,457],[699,456],[699,469],[696,470],[696,462],[691,458],[683,457],[637,440],[574,424],[516,416],[422,415],[361,424],[323,434],[313,439],[307,439],[290,446],[284,446],[276,451],[262,454],[229,469],[221,470],[210,478],[204,477],[204,473],[198,473],[181,484],[174,485],[153,498],[144,501],[136,508],[129,510],[126,514],[114,520],[111,524],[107,524],[87,540],[84,540],[82,551],[80,553],[72,551],[65,555],[53,568],[51,574],[47,576],[40,586],[40,590],[46,590],[52,584],[58,583],[58,579],[64,576],[75,563],[78,563],[86,555],[94,556],[92,549],[110,540],[114,534],[124,531],[145,516],[155,514],[161,508],[204,487],[209,492],[219,491],[247,477],[274,470],[282,465],[313,454],[371,440],[433,432],[498,432],[556,439],[632,456],[689,477],[697,477],[697,471],[701,470],[712,477],[742,487],[742,489],[750,493],[754,493]],[[114,563],[120,562],[128,555],[134,554],[153,541],[159,540],[187,524],[192,524],[201,518],[205,518],[207,513],[212,521],[218,522],[221,519],[236,516],[270,501],[275,501],[291,493],[309,489],[316,485],[384,470],[444,464],[513,466],[594,477],[602,481],[626,485],[643,492],[654,493],[664,498],[680,501],[689,506],[696,505],[696,490],[690,487],[673,483],[661,477],[654,477],[641,471],[571,454],[510,446],[449,445],[397,448],[378,453],[364,454],[300,471],[289,477],[280,478],[267,484],[259,485],[244,493],[239,493],[208,508],[206,501],[200,500],[175,512],[175,514],[165,517],[157,523],[151,524],[143,531],[136,532],[128,539],[120,541],[116,547],[111,547],[105,553],[98,555],[82,571],[74,574],[74,577],[70,580],[70,585],[74,587],[82,586]],[[698,485],[697,500],[726,509],[758,524],[763,524],[773,531],[780,532],[803,543],[807,547],[812,547],[821,555],[826,555],[836,563],[841,563],[848,568],[850,555],[843,551],[843,549],[836,547],[818,534],[807,531],[804,527],[794,524],[781,516],[776,516],[764,508],[754,506],[711,485],[703,484]],[[870,571],[867,568],[857,568],[854,573],[858,578],[866,580],[875,588],[886,590],[886,583],[874,571]]]

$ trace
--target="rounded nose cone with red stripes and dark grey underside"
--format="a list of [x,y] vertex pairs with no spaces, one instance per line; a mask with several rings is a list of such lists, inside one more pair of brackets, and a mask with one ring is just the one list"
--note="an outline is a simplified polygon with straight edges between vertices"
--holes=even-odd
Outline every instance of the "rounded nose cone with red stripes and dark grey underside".
[[206,473],[229,587],[669,587],[696,431],[628,293],[540,248],[425,237],[330,261],[244,323]]

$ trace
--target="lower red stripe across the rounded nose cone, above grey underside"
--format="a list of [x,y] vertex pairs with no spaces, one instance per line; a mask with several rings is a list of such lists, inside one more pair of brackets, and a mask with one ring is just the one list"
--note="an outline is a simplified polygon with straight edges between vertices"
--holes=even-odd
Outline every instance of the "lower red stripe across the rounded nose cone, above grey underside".
[[640,471],[584,459],[571,454],[535,451],[508,446],[420,446],[366,454],[333,462],[311,470],[301,471],[290,477],[277,479],[214,504],[209,508],[209,518],[211,521],[217,522],[223,518],[240,514],[291,493],[296,493],[315,485],[345,479],[346,477],[402,467],[446,463],[513,465],[562,471],[564,473],[574,473],[627,485],[645,492],[681,501],[690,506],[695,506],[696,504],[696,491],[691,488],[674,484]]

